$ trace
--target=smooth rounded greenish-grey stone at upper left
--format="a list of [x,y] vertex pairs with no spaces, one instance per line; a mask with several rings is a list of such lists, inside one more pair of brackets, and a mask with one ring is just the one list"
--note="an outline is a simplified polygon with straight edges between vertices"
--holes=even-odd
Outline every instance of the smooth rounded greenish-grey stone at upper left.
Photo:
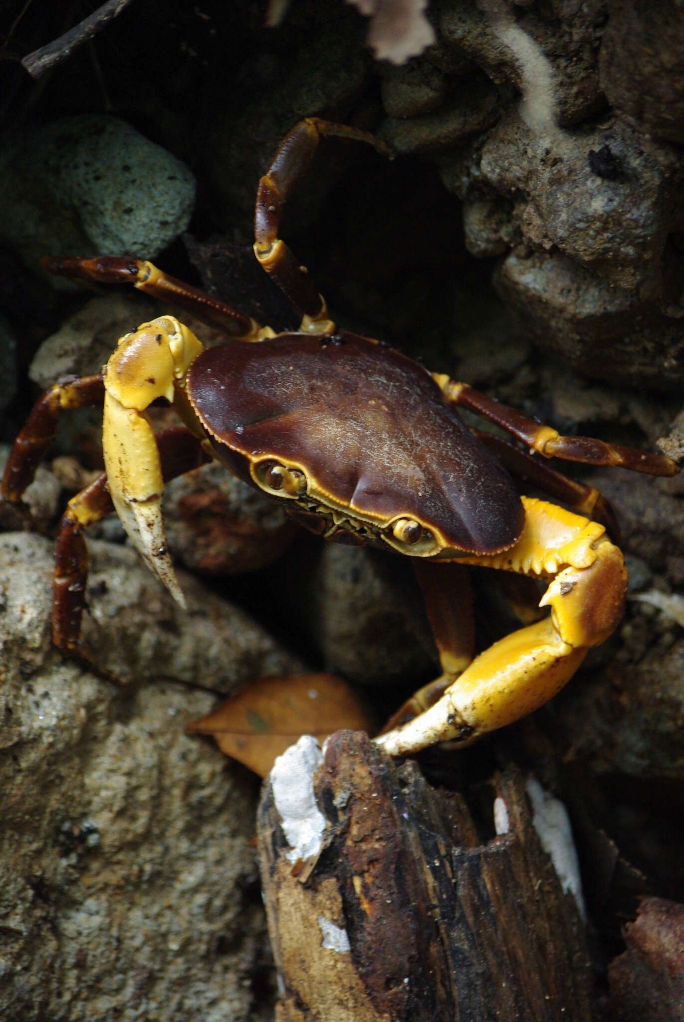
[[5,139],[0,235],[42,256],[151,259],[188,225],[194,178],[171,153],[104,114],[62,118]]

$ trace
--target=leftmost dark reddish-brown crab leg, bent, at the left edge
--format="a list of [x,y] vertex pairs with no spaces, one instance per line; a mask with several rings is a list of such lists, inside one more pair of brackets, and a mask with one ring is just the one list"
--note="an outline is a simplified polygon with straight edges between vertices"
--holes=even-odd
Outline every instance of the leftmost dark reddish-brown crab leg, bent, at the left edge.
[[38,399],[24,429],[18,434],[0,483],[0,495],[13,504],[33,482],[36,469],[54,439],[57,418],[62,408],[89,408],[101,405],[104,384],[101,376],[63,377]]

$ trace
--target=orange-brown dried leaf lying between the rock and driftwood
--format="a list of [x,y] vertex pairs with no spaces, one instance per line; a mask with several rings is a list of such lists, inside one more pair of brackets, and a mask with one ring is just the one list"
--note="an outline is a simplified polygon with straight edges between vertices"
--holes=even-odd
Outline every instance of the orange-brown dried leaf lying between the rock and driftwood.
[[260,678],[185,730],[212,735],[227,756],[266,777],[301,735],[323,742],[340,728],[371,730],[363,701],[335,675],[307,673]]

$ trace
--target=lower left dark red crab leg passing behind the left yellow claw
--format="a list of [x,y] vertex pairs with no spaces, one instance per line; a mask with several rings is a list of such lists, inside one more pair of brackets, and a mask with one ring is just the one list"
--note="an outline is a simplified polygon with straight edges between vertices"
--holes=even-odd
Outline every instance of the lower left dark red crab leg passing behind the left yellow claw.
[[[156,437],[164,480],[198,468],[211,461],[202,442],[183,427],[165,429]],[[88,578],[88,548],[83,530],[113,512],[113,504],[102,472],[89,486],[73,497],[59,523],[52,596],[52,641],[58,649],[78,652],[88,662],[93,657],[80,641],[81,618]]]

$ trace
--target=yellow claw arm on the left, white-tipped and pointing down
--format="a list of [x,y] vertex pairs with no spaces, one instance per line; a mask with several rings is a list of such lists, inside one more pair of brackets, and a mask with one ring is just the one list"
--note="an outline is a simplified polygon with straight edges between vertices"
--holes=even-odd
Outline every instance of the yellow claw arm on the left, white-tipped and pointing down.
[[111,500],[141,556],[181,606],[162,517],[162,464],[145,409],[166,398],[185,411],[185,374],[201,350],[191,330],[163,316],[122,337],[104,369],[102,446]]

